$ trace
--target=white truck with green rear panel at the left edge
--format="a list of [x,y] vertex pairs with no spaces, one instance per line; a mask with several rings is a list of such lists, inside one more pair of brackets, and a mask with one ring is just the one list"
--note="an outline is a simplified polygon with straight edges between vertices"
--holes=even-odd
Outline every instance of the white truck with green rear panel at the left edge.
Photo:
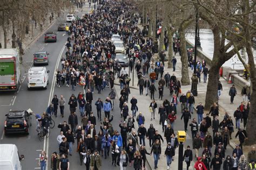
[[21,86],[19,60],[18,49],[0,49],[0,91],[17,91]]

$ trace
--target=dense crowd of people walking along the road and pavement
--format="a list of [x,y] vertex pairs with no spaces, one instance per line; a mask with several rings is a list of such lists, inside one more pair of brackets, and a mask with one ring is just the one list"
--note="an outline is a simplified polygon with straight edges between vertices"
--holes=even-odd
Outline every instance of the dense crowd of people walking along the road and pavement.
[[[246,125],[245,115],[248,115],[250,104],[245,106],[242,103],[234,113],[235,125],[239,129],[235,137],[239,137],[240,144],[237,145],[232,156],[227,155],[225,158],[226,146],[231,139],[234,126],[231,117],[226,113],[224,120],[219,122],[219,109],[215,103],[206,117],[203,117],[204,107],[200,103],[196,107],[198,120],[193,118],[188,124],[194,114],[194,96],[190,91],[181,94],[181,84],[176,75],[164,74],[164,61],[153,60],[153,39],[143,37],[142,31],[137,26],[139,16],[134,12],[135,9],[129,2],[104,2],[97,6],[97,10],[78,18],[66,29],[68,33],[66,53],[65,57],[61,59],[62,69],[56,70],[57,87],[71,86],[73,91],[76,91],[78,86],[84,89],[87,87],[87,92],[85,94],[79,92],[78,96],[72,94],[67,101],[64,96],[58,98],[55,95],[44,112],[42,119],[47,119],[48,116],[57,117],[59,107],[60,116],[64,117],[66,103],[70,110],[68,120],[58,125],[60,129],[57,136],[59,148],[58,153],[53,152],[51,155],[51,168],[70,169],[69,158],[77,152],[80,165],[84,164],[87,170],[100,169],[103,166],[102,159],[107,159],[110,154],[112,165],[119,166],[120,169],[126,169],[127,166],[133,166],[134,169],[145,169],[147,155],[153,154],[154,168],[157,169],[161,148],[164,147],[163,154],[166,156],[167,169],[169,169],[174,159],[175,150],[179,146],[176,133],[174,133],[174,123],[178,117],[177,108],[180,105],[180,118],[184,120],[184,130],[188,131],[189,125],[193,138],[194,154],[190,146],[187,146],[183,155],[187,169],[190,168],[193,155],[198,160],[194,165],[196,169],[213,167],[217,170],[222,164],[224,169],[253,169],[256,166],[255,148],[253,147],[250,155],[248,154],[247,162],[242,153],[242,143],[246,140],[247,133],[244,128],[240,127],[241,118],[244,120],[244,126]],[[124,41],[125,55],[130,60],[130,69],[122,68],[120,62],[115,59],[116,47],[111,40],[112,34],[119,34]],[[167,37],[165,37],[165,41],[168,42]],[[173,45],[174,52],[180,53],[178,39],[174,40]],[[161,55],[164,56],[164,54]],[[188,56],[188,63],[193,69],[192,54],[188,53]],[[173,57],[173,72],[175,72],[176,62],[176,58]],[[134,71],[133,69],[138,76],[139,94],[143,95],[144,90],[146,96],[150,93],[151,121],[156,119],[156,110],[158,109],[163,137],[152,123],[145,123],[145,117],[137,105],[137,98],[132,96],[129,100],[131,81],[129,72]],[[204,60],[197,61],[197,72],[199,82],[200,74],[203,73],[204,83],[206,83],[208,68]],[[114,100],[117,97],[116,91],[113,89],[115,79],[119,79],[121,89],[119,111],[114,110]],[[158,88],[155,86],[157,81]],[[165,87],[170,90],[171,100],[164,100],[158,107],[154,93],[158,89],[159,100],[163,100]],[[95,90],[98,91],[98,94],[102,90],[107,90],[109,95],[93,100]],[[222,90],[222,86],[220,90]],[[130,109],[129,102],[131,103]],[[92,112],[93,107],[96,108],[97,115]],[[77,112],[79,112],[80,118]],[[118,112],[123,121],[119,122],[120,129],[114,129],[111,122],[118,117]],[[213,117],[213,120],[210,116]],[[82,125],[79,125],[78,120]],[[38,124],[41,122],[38,121]],[[138,124],[137,130],[134,126],[135,122]],[[148,129],[145,128],[147,124],[150,124]],[[96,125],[100,126],[98,132]],[[208,132],[210,127],[212,127],[213,137]],[[149,152],[146,150],[146,139],[149,140]],[[165,142],[166,146],[163,145]],[[213,146],[215,146],[214,155],[211,152]],[[203,151],[199,154],[201,147],[203,147]],[[39,164],[43,170],[47,159],[45,151],[42,151]]]

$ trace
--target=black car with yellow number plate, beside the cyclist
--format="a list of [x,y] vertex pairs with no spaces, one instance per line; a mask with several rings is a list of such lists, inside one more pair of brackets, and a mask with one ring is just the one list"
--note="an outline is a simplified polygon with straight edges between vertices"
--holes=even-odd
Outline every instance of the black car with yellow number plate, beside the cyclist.
[[29,134],[29,128],[32,126],[31,114],[28,111],[10,111],[5,115],[4,134],[26,133]]

